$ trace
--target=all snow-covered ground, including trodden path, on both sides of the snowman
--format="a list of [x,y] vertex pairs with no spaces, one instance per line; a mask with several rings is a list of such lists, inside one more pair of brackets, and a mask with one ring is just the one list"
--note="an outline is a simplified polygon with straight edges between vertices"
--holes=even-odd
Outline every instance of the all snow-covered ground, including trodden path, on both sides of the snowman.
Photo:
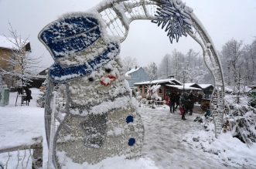
[[[30,106],[14,106],[16,93],[11,93],[9,106],[0,107],[0,150],[28,144],[32,137],[43,136],[43,168],[46,168],[44,110],[36,107],[38,95],[39,90],[32,89]],[[138,110],[145,125],[142,157],[138,161],[112,157],[84,168],[256,168],[256,144],[247,147],[230,133],[216,139],[211,130],[213,126],[205,131],[199,122],[193,121],[200,114],[186,116],[184,121],[179,112],[169,113],[168,106],[156,109],[142,106]],[[17,164],[10,164],[17,163],[16,155],[12,158],[9,166],[16,167]],[[5,156],[0,154],[0,164],[5,162]]]

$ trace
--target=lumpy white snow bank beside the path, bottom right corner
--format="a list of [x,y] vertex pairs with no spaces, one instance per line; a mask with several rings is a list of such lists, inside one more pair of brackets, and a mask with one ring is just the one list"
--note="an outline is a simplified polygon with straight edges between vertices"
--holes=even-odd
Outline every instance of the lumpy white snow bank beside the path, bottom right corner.
[[[211,127],[213,128],[213,125]],[[184,144],[188,144],[193,149],[214,154],[212,157],[226,166],[256,168],[256,144],[247,147],[230,132],[220,134],[216,139],[212,130],[200,130],[186,134],[183,140]]]

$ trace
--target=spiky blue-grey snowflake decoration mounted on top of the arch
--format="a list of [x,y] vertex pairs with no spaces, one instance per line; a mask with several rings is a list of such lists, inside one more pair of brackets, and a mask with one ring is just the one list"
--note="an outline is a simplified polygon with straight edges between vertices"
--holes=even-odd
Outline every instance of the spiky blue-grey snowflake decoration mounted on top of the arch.
[[192,12],[192,8],[187,7],[179,0],[162,0],[155,14],[157,19],[152,22],[162,26],[162,29],[166,28],[165,31],[168,32],[167,35],[171,43],[173,39],[178,42],[179,37],[186,36],[189,31],[192,32],[190,17]]

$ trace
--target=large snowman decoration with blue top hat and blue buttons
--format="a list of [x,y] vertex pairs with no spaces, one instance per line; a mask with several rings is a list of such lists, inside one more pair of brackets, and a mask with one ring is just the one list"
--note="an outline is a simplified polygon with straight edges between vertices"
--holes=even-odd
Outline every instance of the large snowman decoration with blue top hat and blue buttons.
[[67,89],[67,115],[53,140],[53,164],[83,164],[115,156],[139,157],[144,127],[125,83],[120,42],[97,15],[63,15],[39,33],[55,63],[49,78]]

